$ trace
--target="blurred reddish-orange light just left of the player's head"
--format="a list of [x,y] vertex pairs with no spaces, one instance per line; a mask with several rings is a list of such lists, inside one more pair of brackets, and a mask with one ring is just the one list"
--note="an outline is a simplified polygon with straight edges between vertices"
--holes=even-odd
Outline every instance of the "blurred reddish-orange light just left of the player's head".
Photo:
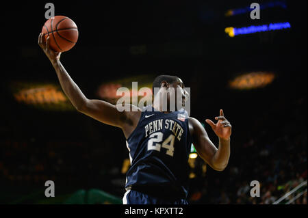
[[[120,87],[127,87],[129,89],[129,96],[131,100],[132,96],[138,96],[138,100],[146,96],[146,93],[138,93],[132,91],[132,82],[138,82],[138,91],[142,87],[149,87],[152,90],[152,84],[155,77],[151,74],[146,74],[138,77],[129,77],[126,79],[120,79],[116,81],[110,81],[107,83],[102,83],[97,89],[97,96],[103,100],[107,100],[110,103],[116,104],[116,101],[122,96],[117,96],[116,91]],[[126,96],[127,93],[123,94]],[[149,98],[152,96],[149,96]],[[132,103],[132,100],[131,100]],[[132,103],[133,104],[133,103]],[[138,106],[138,105],[136,105]]]

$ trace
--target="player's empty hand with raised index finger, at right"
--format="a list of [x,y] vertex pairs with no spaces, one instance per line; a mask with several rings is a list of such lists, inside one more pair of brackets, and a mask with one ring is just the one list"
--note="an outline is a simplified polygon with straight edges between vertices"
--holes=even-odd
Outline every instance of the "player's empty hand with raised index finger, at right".
[[218,120],[216,124],[214,124],[214,122],[209,119],[205,120],[205,122],[207,122],[207,124],[211,126],[214,133],[218,137],[225,140],[230,139],[232,126],[230,122],[226,118],[224,118],[224,111],[222,111],[222,109],[220,109],[220,115],[216,117],[215,120]]

